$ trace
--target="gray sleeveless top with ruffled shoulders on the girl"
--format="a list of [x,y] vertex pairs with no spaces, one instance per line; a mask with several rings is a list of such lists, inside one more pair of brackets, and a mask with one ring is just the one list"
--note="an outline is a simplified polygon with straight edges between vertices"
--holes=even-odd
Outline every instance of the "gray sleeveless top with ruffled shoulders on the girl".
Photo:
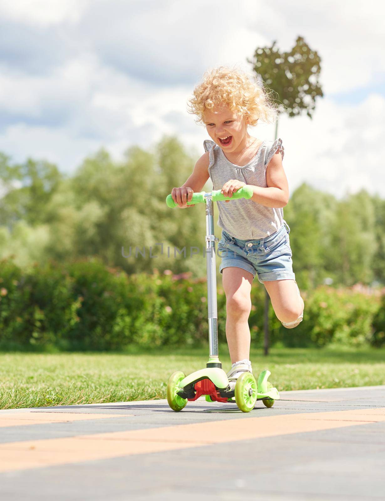
[[[209,175],[213,189],[222,189],[230,179],[238,179],[246,184],[267,187],[266,167],[278,150],[283,158],[282,139],[263,141],[255,157],[243,167],[231,163],[222,148],[214,141],[203,142],[205,151],[209,152]],[[227,233],[241,240],[257,240],[266,238],[280,229],[283,224],[283,209],[266,207],[253,200],[240,198],[226,202],[217,202],[219,211],[218,226]]]

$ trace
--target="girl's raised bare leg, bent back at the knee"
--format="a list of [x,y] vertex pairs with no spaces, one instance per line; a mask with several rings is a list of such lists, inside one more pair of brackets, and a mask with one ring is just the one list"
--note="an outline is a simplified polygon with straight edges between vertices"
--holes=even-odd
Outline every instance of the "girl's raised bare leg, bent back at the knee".
[[[274,280],[264,282],[264,286],[270,296],[271,304],[278,320],[285,323],[293,323],[288,329],[296,327],[302,319],[298,320],[303,312],[304,303],[298,294],[294,280]],[[298,320],[298,322],[295,322]],[[286,326],[285,326],[286,327]]]

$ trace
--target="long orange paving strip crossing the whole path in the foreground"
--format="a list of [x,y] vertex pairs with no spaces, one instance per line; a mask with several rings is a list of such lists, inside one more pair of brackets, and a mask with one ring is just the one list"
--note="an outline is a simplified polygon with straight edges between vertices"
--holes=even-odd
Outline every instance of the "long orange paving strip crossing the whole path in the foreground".
[[[105,414],[104,414],[105,416]],[[114,416],[116,417],[116,415]],[[146,454],[385,421],[385,409],[244,417],[0,444],[0,471]]]

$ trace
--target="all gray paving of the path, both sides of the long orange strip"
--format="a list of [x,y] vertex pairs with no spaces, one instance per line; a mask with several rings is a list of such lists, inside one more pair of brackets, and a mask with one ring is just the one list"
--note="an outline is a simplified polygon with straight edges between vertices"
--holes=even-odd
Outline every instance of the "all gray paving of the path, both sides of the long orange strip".
[[[281,397],[271,409],[257,403],[248,414],[202,399],[180,413],[170,411],[164,400],[26,409],[119,417],[3,427],[0,442],[224,420],[242,426],[251,417],[385,408],[385,386],[282,392]],[[0,411],[0,416],[16,412],[21,410]],[[383,499],[384,466],[385,422],[375,422],[11,471],[0,473],[0,490],[10,501]]]

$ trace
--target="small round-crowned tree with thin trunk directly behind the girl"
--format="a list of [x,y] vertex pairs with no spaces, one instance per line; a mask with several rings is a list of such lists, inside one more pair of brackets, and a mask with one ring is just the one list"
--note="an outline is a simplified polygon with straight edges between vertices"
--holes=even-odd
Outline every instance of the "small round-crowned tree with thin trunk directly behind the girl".
[[[273,98],[279,113],[289,117],[300,115],[303,111],[309,118],[315,109],[315,98],[323,97],[319,85],[321,59],[316,51],[310,49],[303,37],[298,37],[290,52],[280,53],[276,41],[271,47],[257,48],[253,64],[259,79],[263,80],[276,96]],[[279,117],[279,115],[278,115]],[[275,126],[275,139],[278,137],[278,117]],[[270,298],[265,294],[265,355],[269,353],[269,315]]]

